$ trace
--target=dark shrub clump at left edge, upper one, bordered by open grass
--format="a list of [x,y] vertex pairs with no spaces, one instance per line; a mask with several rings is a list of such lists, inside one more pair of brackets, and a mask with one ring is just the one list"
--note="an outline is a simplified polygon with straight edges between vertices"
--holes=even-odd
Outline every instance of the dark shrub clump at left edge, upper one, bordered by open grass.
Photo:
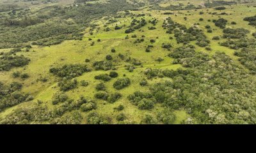
[[26,66],[29,61],[30,59],[23,55],[3,55],[0,57],[0,71],[10,71],[10,69],[15,67]]

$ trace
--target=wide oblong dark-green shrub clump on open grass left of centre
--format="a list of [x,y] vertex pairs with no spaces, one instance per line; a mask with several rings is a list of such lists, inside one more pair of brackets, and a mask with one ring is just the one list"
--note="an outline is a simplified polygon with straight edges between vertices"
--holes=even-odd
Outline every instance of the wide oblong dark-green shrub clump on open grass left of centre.
[[61,78],[75,78],[83,75],[84,72],[91,71],[88,66],[83,64],[65,64],[59,68],[51,68],[50,73]]

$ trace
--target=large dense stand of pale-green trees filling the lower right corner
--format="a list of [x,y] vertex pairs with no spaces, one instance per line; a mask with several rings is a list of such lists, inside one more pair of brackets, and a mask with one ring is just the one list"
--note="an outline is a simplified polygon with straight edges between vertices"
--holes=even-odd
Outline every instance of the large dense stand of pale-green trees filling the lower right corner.
[[209,61],[170,77],[172,82],[153,85],[147,95],[157,94],[168,108],[185,108],[193,123],[255,123],[256,82],[225,53],[216,52]]

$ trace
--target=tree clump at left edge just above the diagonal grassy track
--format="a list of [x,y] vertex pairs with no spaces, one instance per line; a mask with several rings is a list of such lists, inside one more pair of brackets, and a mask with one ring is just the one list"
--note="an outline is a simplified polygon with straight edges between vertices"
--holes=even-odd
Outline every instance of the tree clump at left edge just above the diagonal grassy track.
[[20,92],[21,89],[22,84],[18,82],[6,85],[0,82],[0,112],[24,101],[33,100],[33,96]]

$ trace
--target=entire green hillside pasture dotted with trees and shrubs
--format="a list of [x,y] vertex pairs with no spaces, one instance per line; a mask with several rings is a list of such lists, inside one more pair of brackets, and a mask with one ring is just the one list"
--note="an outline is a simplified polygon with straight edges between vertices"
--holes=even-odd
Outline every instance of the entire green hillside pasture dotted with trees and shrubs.
[[255,1],[15,4],[1,124],[256,123]]

